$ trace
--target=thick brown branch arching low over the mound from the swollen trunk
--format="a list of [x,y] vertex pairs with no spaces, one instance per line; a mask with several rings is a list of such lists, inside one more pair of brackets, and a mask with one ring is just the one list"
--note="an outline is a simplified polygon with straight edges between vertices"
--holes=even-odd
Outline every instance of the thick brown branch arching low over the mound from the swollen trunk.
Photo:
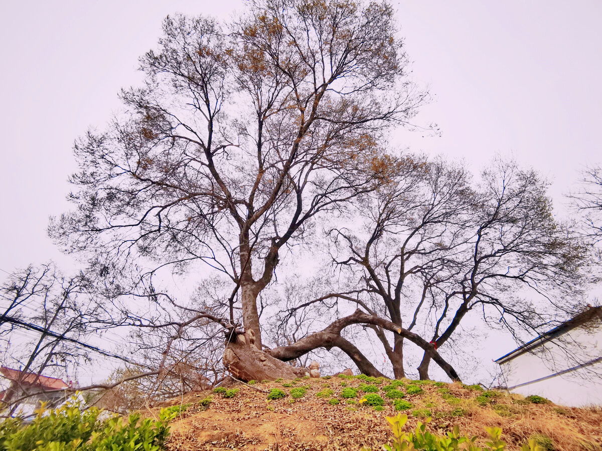
[[[383,329],[400,334],[400,336],[424,349],[424,352],[426,352],[426,354],[429,355],[430,358],[432,358],[441,367],[441,369],[445,371],[447,376],[449,376],[452,381],[460,380],[456,370],[453,369],[453,367],[447,363],[447,361],[445,361],[437,351],[435,351],[435,347],[431,343],[427,342],[417,334],[393,324],[391,321],[379,318],[376,315],[364,313],[363,311],[359,310],[359,308],[353,314],[337,319],[337,321],[330,324],[324,330],[315,332],[310,336],[299,340],[293,345],[279,346],[278,348],[271,349],[267,352],[268,354],[272,355],[272,357],[287,361],[301,357],[302,355],[316,348],[330,349],[333,346],[338,346],[337,343],[341,343],[339,340],[341,337],[341,331],[352,324],[373,324],[375,326],[380,326]],[[343,349],[343,351],[345,351],[345,349]]]

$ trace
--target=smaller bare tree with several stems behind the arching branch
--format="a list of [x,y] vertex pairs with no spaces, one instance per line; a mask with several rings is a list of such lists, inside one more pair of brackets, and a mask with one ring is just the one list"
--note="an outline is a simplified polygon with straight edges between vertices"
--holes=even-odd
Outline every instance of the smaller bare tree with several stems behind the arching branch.
[[[586,255],[554,220],[547,185],[535,171],[497,160],[473,186],[461,165],[409,161],[364,197],[358,214],[365,232],[330,232],[335,263],[364,280],[356,295],[365,310],[417,332],[435,349],[477,308],[485,322],[504,325],[517,339],[520,330],[541,330],[576,310]],[[353,297],[348,293],[347,301]],[[394,374],[404,376],[405,336],[394,333],[391,343],[373,326]],[[425,349],[423,379],[431,358]]]

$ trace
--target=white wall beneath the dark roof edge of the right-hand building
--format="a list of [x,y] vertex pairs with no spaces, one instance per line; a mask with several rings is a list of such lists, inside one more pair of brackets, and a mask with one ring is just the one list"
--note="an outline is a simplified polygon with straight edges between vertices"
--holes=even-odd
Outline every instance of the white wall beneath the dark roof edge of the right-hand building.
[[[602,324],[589,322],[501,364],[507,387],[525,384],[602,357]],[[511,391],[538,394],[554,403],[581,407],[602,405],[602,362]]]

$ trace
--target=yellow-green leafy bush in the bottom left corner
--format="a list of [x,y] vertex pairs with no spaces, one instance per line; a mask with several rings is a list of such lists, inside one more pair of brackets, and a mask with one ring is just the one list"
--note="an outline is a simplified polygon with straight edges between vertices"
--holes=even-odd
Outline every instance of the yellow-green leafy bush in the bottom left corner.
[[51,411],[39,410],[27,426],[14,420],[0,425],[2,451],[158,451],[163,449],[175,412],[161,411],[160,420],[140,420],[132,414],[127,422],[111,418],[97,422],[99,410],[80,411],[76,403]]

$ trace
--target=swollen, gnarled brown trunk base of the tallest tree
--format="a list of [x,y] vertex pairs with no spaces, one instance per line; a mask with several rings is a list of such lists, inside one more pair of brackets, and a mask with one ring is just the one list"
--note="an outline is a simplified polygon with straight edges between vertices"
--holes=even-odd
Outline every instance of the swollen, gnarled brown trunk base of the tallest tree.
[[309,369],[290,366],[282,360],[259,351],[253,341],[252,331],[246,331],[226,346],[223,363],[235,378],[249,382],[309,376]]

